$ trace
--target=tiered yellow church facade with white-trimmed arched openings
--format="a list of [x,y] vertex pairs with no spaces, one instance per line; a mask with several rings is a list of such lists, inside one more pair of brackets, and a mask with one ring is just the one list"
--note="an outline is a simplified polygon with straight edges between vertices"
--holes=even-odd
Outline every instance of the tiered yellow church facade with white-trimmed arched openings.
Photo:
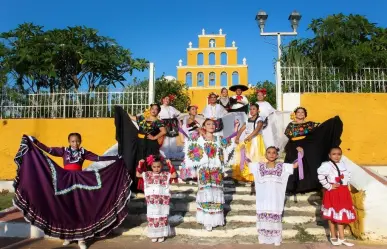
[[[215,46],[210,47],[210,40],[215,40]],[[238,64],[238,51],[236,47],[226,46],[225,35],[199,35],[198,48],[187,49],[187,66],[177,67],[177,80],[186,83],[187,73],[191,73],[192,87],[189,89],[191,103],[199,106],[201,112],[207,105],[207,96],[210,92],[220,94],[221,73],[227,73],[227,85],[229,88],[235,84],[248,85],[248,67]],[[203,65],[198,65],[198,54],[203,54]],[[209,54],[215,54],[215,65],[209,65]],[[227,65],[221,65],[221,54],[227,54]],[[232,81],[232,74],[238,73],[238,82]],[[203,73],[203,80],[198,86],[198,73]],[[209,85],[209,75],[215,73],[215,86]],[[230,95],[233,93],[230,92]],[[246,93],[248,94],[248,93]]]

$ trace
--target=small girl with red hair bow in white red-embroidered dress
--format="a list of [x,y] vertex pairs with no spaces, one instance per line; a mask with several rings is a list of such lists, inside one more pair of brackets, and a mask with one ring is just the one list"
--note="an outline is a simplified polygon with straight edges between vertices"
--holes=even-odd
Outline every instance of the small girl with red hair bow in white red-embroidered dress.
[[[170,160],[167,160],[169,172],[162,172],[162,159],[160,156],[150,155],[146,159],[146,164],[151,166],[152,171],[136,172],[136,176],[144,179],[144,194],[147,204],[148,237],[152,242],[164,242],[169,235],[169,180],[176,178],[175,168]],[[144,160],[141,160],[145,164]]]

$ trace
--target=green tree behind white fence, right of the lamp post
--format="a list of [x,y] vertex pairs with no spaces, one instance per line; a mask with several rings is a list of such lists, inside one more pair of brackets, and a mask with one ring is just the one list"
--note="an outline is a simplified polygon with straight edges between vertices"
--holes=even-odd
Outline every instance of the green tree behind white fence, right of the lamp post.
[[364,67],[387,67],[387,29],[361,15],[335,14],[313,19],[314,37],[284,48],[286,66],[337,67],[354,73]]

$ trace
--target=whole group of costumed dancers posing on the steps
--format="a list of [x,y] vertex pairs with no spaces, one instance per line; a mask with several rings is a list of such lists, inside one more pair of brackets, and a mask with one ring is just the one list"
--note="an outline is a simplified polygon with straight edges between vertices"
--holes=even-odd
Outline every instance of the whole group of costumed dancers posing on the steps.
[[[297,107],[283,131],[288,142],[285,160],[279,162],[272,125],[276,110],[265,101],[265,89],[259,89],[258,101],[249,104],[242,94],[247,89],[235,85],[223,88],[220,97],[211,93],[203,117],[197,106],[190,105],[188,115],[179,119],[181,113],[170,105],[173,95],[165,96],[162,105],[151,104],[141,115],[116,106],[118,147],[112,156],[82,148],[78,133],[68,136],[67,147],[47,147],[24,135],[15,157],[14,205],[46,235],[64,239],[64,245],[78,241],[85,249],[85,240],[106,236],[126,218],[131,191],[144,192],[148,236],[152,242],[163,242],[170,235],[169,188],[177,177],[197,181],[198,223],[207,231],[225,224],[223,178],[230,168],[239,184],[254,183],[259,243],[280,245],[286,193],[322,186],[321,213],[329,221],[330,241],[352,246],[343,232],[356,217],[348,190],[350,172],[341,160],[340,118],[322,124],[306,121],[307,110]],[[229,97],[228,90],[236,95]],[[223,121],[227,116],[232,118],[231,128]],[[42,151],[62,157],[64,168]],[[184,158],[179,176],[171,158]],[[84,160],[107,162],[105,167],[82,171]]]

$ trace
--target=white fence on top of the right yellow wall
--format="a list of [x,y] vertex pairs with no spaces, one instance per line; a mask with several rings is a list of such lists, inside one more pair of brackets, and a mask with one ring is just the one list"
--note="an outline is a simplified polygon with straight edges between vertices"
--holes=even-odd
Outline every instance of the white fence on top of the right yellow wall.
[[387,92],[387,69],[364,68],[357,74],[338,68],[282,67],[283,92]]

